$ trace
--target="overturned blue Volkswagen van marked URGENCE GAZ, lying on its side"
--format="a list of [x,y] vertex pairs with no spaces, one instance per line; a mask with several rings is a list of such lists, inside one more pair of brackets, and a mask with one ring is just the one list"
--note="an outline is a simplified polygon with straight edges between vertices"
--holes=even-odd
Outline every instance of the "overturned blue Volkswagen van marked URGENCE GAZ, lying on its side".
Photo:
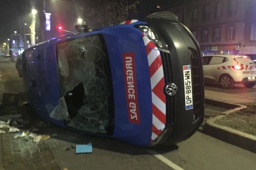
[[21,63],[29,103],[61,127],[156,146],[204,119],[201,51],[170,13],[42,42]]

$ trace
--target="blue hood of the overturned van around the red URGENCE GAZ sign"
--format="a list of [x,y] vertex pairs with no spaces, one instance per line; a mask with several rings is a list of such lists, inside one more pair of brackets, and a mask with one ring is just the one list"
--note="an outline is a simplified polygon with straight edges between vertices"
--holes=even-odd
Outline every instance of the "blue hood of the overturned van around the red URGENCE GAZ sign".
[[[136,28],[111,29],[102,32],[105,37],[111,74],[113,80],[115,103],[115,130],[113,137],[145,145],[150,143],[152,127],[151,85],[148,59],[141,32]],[[128,120],[127,102],[125,96],[125,80],[122,54],[134,53],[135,71],[137,77],[137,93],[140,113],[140,124]],[[136,140],[134,140],[136,139]]]

